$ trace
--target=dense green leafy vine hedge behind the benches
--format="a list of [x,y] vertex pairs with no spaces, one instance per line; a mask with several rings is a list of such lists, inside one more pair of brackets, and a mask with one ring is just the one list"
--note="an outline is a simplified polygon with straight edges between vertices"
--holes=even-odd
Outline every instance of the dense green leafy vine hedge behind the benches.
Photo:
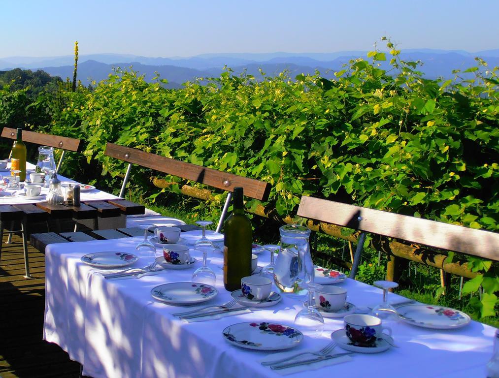
[[[19,104],[32,129],[84,139],[86,163],[73,157],[66,172],[90,181],[102,167],[101,186],[117,188],[124,170],[103,155],[113,142],[267,181],[282,215],[310,194],[497,231],[497,67],[477,59],[463,71],[474,79],[456,70],[454,80],[429,80],[388,47],[351,61],[332,81],[318,72],[257,79],[227,69],[166,89],[164,79],[147,83],[118,69],[91,89],[60,84]],[[386,59],[388,71],[378,64]],[[0,91],[0,126],[12,126],[6,110],[18,93]],[[134,169],[132,182],[155,197],[145,171]],[[215,199],[218,206],[222,194]]]

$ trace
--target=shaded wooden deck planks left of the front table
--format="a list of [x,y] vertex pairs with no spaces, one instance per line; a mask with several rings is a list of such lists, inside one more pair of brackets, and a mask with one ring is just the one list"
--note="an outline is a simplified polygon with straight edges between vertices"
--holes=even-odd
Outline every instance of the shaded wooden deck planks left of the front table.
[[0,260],[0,377],[78,377],[79,364],[41,339],[45,257],[28,247],[33,279],[25,279],[21,239],[14,235],[12,241],[3,243]]

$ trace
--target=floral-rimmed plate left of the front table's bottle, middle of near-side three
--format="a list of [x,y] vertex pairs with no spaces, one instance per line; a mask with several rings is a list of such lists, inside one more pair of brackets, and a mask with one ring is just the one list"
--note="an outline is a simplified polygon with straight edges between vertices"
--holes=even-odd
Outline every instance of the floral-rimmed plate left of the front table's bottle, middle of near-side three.
[[215,287],[196,282],[172,282],[151,290],[154,299],[172,305],[194,305],[209,301],[217,294]]

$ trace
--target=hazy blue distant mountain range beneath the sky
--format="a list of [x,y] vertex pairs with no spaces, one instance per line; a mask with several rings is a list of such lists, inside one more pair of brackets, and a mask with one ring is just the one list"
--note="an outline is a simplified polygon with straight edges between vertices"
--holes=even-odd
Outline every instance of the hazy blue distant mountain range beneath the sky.
[[[362,57],[367,59],[366,51],[340,51],[333,53],[227,53],[202,54],[193,57],[146,57],[124,54],[91,54],[80,55],[78,61],[78,79],[87,85],[92,80],[100,81],[108,77],[113,67],[123,69],[133,66],[135,71],[144,74],[150,81],[156,72],[169,81],[169,87],[179,87],[186,81],[199,77],[215,77],[222,72],[224,65],[232,68],[236,74],[246,70],[259,77],[259,69],[273,76],[288,70],[291,76],[299,73],[311,73],[315,70],[324,77],[333,77],[333,72],[341,69],[350,59]],[[499,65],[499,49],[470,53],[463,50],[407,49],[402,50],[404,60],[420,60],[420,68],[427,78],[439,76],[452,77],[453,69],[466,69],[476,66],[475,57],[486,60],[489,67]],[[0,70],[12,68],[41,69],[51,76],[62,79],[72,77],[74,57],[7,57],[0,59]],[[388,67],[388,62],[382,64]]]

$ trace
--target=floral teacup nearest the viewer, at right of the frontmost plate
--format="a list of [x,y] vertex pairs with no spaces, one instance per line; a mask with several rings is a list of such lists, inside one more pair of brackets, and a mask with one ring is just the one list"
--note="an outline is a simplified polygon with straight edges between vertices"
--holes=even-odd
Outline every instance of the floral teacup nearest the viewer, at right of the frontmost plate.
[[391,328],[383,327],[381,319],[372,315],[347,315],[343,320],[346,336],[356,346],[372,347],[385,330],[392,336]]

